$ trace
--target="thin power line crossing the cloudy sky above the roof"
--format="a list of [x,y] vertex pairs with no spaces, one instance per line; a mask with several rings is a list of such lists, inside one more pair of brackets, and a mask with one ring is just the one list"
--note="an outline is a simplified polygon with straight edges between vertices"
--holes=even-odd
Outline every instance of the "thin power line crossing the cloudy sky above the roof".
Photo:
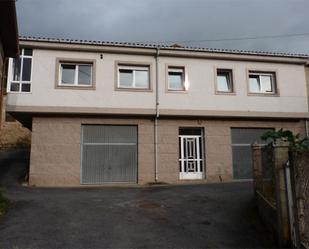
[[263,35],[263,36],[248,36],[239,38],[221,38],[221,39],[203,39],[203,40],[183,40],[183,41],[157,41],[155,43],[195,43],[195,42],[215,42],[215,41],[242,41],[242,40],[259,40],[259,39],[276,39],[284,37],[297,37],[297,36],[307,36],[309,33],[299,33],[299,34],[280,34],[280,35]]

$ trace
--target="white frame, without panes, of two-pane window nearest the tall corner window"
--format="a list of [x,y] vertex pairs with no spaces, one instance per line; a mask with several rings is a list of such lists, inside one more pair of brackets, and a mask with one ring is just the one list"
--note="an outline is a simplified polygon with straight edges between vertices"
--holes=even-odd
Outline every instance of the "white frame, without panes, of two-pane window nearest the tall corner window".
[[[74,72],[74,82],[73,84],[64,84],[62,83],[62,65],[70,65],[70,66],[75,66],[75,72]],[[90,75],[90,84],[79,84],[78,83],[78,71],[79,71],[79,66],[90,66],[91,68],[91,75]],[[93,63],[76,63],[72,61],[60,61],[59,62],[59,80],[58,80],[58,86],[61,87],[93,87]]]

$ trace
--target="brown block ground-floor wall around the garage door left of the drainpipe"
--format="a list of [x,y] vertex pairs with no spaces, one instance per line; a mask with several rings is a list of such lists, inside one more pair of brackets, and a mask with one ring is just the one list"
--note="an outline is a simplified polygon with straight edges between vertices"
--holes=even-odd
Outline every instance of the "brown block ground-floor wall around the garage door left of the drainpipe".
[[138,181],[154,179],[153,122],[147,119],[33,118],[30,185],[79,186],[81,125],[137,125]]

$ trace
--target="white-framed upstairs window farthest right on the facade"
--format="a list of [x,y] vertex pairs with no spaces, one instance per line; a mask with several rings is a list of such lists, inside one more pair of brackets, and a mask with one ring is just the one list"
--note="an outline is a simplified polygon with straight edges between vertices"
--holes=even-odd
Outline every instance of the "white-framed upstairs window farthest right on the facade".
[[276,93],[276,74],[249,71],[249,93]]

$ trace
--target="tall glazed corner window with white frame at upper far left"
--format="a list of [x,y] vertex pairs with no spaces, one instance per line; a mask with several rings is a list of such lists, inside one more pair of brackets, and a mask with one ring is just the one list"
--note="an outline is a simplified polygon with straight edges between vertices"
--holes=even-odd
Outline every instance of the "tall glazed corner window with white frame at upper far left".
[[8,92],[31,92],[32,52],[32,49],[22,48],[18,58],[9,60]]

